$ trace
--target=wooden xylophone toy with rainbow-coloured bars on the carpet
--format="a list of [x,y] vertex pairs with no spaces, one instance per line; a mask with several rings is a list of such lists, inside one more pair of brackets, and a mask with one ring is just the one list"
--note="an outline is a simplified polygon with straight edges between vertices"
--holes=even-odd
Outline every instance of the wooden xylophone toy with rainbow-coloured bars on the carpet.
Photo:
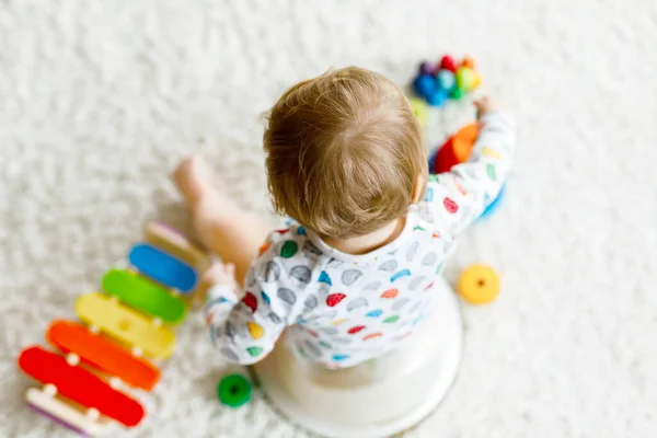
[[102,292],[78,299],[81,322],[50,323],[45,338],[51,349],[33,345],[18,360],[42,383],[27,389],[27,404],[84,436],[135,427],[145,417],[128,391],[152,391],[158,383],[153,360],[171,356],[172,327],[203,301],[199,276],[210,260],[180,232],[151,222],[127,262],[104,275]]

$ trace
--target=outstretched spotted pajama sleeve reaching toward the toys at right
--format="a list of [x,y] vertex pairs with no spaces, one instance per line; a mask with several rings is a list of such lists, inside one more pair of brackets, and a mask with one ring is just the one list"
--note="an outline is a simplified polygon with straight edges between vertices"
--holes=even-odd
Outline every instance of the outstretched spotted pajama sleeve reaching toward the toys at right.
[[499,195],[516,150],[516,123],[502,112],[488,113],[470,159],[449,172],[429,175],[424,203],[425,217],[454,237],[471,224]]

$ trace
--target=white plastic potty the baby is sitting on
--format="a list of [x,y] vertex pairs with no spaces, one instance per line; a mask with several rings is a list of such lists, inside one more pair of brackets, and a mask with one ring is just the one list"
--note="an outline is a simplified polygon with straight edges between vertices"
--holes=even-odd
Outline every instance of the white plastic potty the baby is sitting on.
[[330,438],[380,438],[428,416],[451,388],[461,361],[459,302],[441,277],[436,310],[397,348],[356,367],[331,370],[298,359],[285,339],[253,369],[275,407]]

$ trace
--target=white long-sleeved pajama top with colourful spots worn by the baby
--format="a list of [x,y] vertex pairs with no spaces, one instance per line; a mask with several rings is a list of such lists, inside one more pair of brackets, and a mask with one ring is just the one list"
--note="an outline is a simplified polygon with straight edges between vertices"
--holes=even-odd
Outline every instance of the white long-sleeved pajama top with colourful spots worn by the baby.
[[289,220],[253,262],[245,292],[214,286],[206,312],[226,359],[253,364],[285,328],[301,357],[344,368],[380,356],[411,335],[433,309],[431,288],[454,238],[497,197],[511,166],[511,116],[487,114],[468,162],[430,175],[402,233],[369,254],[351,255]]

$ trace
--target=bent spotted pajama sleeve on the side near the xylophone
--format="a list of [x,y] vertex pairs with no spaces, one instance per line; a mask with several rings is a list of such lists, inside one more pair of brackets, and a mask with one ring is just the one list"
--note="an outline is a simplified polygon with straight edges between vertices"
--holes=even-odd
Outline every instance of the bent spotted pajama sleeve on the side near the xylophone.
[[243,291],[216,285],[207,292],[205,313],[211,342],[230,362],[250,365],[264,359],[297,318],[298,307],[291,306],[295,300],[290,298],[295,292],[275,247],[265,247],[252,264]]

